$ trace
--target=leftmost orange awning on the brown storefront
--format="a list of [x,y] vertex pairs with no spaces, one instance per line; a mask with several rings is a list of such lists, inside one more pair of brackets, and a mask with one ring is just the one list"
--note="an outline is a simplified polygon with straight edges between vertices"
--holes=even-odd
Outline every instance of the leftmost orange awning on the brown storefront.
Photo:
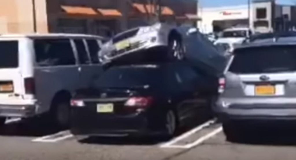
[[61,6],[67,14],[97,15],[98,13],[91,7],[81,6]]

